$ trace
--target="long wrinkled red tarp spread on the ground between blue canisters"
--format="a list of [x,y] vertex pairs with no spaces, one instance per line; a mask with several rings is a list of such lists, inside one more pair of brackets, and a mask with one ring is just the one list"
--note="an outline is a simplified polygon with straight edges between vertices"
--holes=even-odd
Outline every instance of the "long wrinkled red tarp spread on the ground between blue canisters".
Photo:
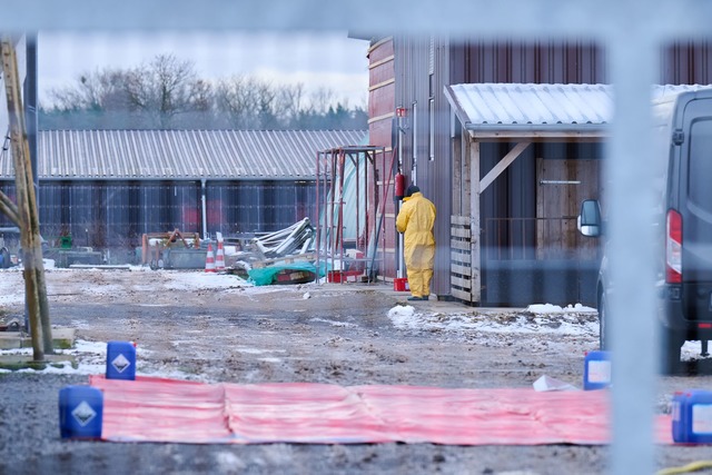
[[[313,383],[199,384],[92,376],[103,390],[101,438],[192,444],[434,443],[600,445],[606,390],[535,392]],[[655,439],[672,444],[670,416]]]

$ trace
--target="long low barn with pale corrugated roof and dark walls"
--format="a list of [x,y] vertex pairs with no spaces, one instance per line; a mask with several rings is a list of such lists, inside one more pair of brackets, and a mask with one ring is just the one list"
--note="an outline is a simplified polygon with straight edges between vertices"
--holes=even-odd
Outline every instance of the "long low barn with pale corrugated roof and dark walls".
[[[316,219],[315,157],[365,131],[60,130],[38,133],[46,239],[131,249],[146,232],[274,231]],[[14,199],[9,151],[0,189]],[[0,226],[10,226],[0,217]]]

